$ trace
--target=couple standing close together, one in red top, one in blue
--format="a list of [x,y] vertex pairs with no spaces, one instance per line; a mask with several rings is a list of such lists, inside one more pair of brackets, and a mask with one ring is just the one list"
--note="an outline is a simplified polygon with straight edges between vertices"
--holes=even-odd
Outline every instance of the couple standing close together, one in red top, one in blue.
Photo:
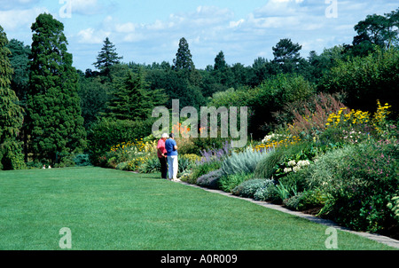
[[177,145],[173,133],[163,133],[158,141],[157,154],[160,159],[160,174],[162,178],[177,179]]

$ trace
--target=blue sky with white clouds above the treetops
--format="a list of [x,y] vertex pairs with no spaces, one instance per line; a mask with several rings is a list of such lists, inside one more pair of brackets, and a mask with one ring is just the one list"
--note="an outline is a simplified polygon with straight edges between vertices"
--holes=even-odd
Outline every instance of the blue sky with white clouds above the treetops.
[[359,20],[398,7],[397,0],[0,0],[0,25],[8,39],[30,45],[35,18],[51,13],[64,23],[68,51],[82,71],[95,68],[106,37],[123,62],[146,64],[172,63],[185,37],[195,66],[205,68],[219,51],[231,65],[273,59],[271,48],[282,38],[300,43],[306,58],[351,43]]

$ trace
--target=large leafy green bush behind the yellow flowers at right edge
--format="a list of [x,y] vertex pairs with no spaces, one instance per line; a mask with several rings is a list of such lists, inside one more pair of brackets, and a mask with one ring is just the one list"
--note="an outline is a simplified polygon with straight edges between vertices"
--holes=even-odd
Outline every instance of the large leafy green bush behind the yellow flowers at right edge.
[[320,90],[346,93],[345,105],[369,111],[377,99],[399,108],[399,51],[377,50],[366,57],[340,61],[325,75]]

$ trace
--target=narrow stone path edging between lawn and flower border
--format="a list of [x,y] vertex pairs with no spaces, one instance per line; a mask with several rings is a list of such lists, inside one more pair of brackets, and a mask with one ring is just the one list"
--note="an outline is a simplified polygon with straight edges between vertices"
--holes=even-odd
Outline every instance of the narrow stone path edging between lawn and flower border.
[[320,224],[320,225],[326,225],[326,226],[333,227],[333,228],[335,228],[337,230],[341,230],[341,231],[348,232],[348,233],[355,233],[357,235],[366,237],[368,239],[376,240],[376,241],[378,241],[380,243],[386,244],[387,246],[390,246],[390,247],[393,247],[393,248],[399,248],[399,240],[394,240],[394,239],[389,238],[387,236],[374,234],[374,233],[355,232],[355,231],[352,231],[352,230],[350,230],[348,228],[345,228],[345,227],[342,227],[340,225],[337,225],[336,223],[334,223],[331,220],[323,219],[323,218],[320,218],[320,217],[315,217],[315,216],[309,215],[309,214],[304,214],[304,213],[302,213],[300,211],[293,211],[293,210],[290,210],[290,209],[286,209],[286,208],[284,208],[284,207],[282,207],[280,205],[271,204],[271,203],[268,203],[268,202],[265,202],[265,201],[255,201],[255,200],[253,200],[251,198],[239,197],[239,196],[233,195],[231,193],[223,192],[222,190],[214,190],[214,189],[201,187],[199,185],[191,185],[191,184],[185,183],[185,182],[180,181],[180,180],[175,180],[175,182],[183,184],[183,185],[189,185],[189,186],[192,186],[192,187],[195,187],[195,188],[200,188],[200,189],[205,190],[205,191],[210,192],[210,193],[219,193],[219,194],[223,194],[225,196],[231,197],[231,198],[238,198],[238,199],[250,201],[250,202],[253,202],[254,204],[257,204],[259,206],[262,206],[262,207],[265,207],[265,208],[268,208],[268,209],[276,209],[278,211],[285,212],[285,213],[288,213],[288,214],[291,214],[291,215],[294,215],[294,216],[297,216],[297,217],[306,218],[309,221],[315,222],[315,223]]

